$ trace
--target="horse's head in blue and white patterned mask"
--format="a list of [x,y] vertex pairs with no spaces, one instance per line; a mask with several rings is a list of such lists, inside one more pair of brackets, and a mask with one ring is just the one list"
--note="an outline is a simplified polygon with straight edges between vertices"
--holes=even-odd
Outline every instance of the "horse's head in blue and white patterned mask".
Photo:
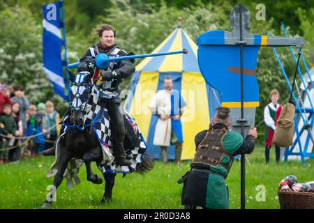
[[[77,69],[79,71],[79,69]],[[70,110],[71,119],[75,125],[84,124],[84,114],[87,109],[87,102],[91,95],[91,73],[88,71],[80,71],[77,75],[70,73]]]

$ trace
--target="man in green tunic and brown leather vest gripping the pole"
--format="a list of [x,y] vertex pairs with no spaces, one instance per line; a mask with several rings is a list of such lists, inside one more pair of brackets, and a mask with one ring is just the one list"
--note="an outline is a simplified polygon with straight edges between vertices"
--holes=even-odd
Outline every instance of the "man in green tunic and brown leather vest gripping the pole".
[[249,129],[244,139],[241,134],[228,130],[230,125],[230,109],[218,107],[209,130],[196,134],[191,169],[178,181],[184,183],[181,201],[185,208],[229,208],[225,178],[234,156],[251,154],[257,138],[256,128]]

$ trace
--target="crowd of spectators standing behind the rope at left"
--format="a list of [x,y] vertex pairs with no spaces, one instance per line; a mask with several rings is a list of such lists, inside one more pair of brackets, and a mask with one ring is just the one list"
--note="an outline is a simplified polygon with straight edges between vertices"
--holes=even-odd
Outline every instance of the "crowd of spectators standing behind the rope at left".
[[38,156],[53,146],[59,121],[52,101],[32,104],[22,86],[0,83],[0,164]]

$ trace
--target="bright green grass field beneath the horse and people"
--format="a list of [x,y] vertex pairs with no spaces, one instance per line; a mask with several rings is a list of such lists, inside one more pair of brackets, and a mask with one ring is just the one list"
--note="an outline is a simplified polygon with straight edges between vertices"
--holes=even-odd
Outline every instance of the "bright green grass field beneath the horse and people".
[[[314,180],[314,160],[281,162],[276,164],[274,150],[271,162],[264,164],[264,147],[256,146],[246,162],[246,208],[279,208],[278,183],[287,175],[297,176],[299,182]],[[40,208],[53,179],[45,179],[54,157],[33,157],[17,164],[0,164],[0,208]],[[104,184],[94,185],[86,180],[84,166],[80,169],[80,185],[66,188],[63,180],[57,190],[53,208],[183,208],[181,188],[177,180],[189,169],[190,162],[180,167],[156,162],[147,174],[119,174],[113,190],[113,201],[100,205]],[[94,172],[100,174],[94,164]],[[230,190],[230,208],[240,208],[240,162],[234,161],[227,177]],[[260,187],[266,189],[265,201],[260,201]],[[258,201],[257,201],[258,200]]]

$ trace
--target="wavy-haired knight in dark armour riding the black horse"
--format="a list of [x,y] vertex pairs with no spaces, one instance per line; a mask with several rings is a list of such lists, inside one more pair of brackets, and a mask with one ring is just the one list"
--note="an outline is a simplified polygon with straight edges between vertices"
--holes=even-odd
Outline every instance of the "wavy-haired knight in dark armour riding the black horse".
[[[112,123],[112,133],[114,135],[114,157],[118,164],[128,166],[131,162],[126,159],[126,151],[124,150],[124,138],[126,137],[126,130],[124,126],[123,109],[120,107],[120,89],[119,84],[123,78],[129,77],[134,71],[134,60],[122,60],[111,62],[106,70],[97,68],[94,64],[94,59],[97,54],[105,53],[110,57],[126,56],[128,55],[124,50],[115,44],[116,31],[109,24],[101,24],[94,30],[100,38],[100,43],[89,47],[87,52],[80,59],[79,70],[89,71],[94,73],[93,79],[96,84],[103,83],[103,94],[101,102],[105,106],[110,115],[110,122]],[[66,114],[70,113],[70,109]],[[63,132],[64,126],[61,128]],[[54,155],[55,146],[44,151],[43,155]]]

